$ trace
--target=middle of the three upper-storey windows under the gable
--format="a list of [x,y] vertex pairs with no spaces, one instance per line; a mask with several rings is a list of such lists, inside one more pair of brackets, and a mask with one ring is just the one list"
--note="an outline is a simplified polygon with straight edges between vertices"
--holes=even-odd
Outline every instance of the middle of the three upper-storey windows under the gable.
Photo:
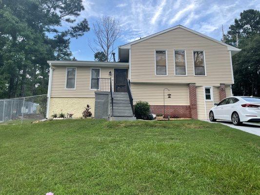
[[186,75],[185,51],[175,51],[175,75]]

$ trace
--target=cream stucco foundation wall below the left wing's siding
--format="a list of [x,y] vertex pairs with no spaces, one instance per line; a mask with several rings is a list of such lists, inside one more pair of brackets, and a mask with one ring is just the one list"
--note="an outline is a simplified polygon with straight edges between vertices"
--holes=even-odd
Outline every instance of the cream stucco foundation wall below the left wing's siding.
[[89,104],[91,106],[91,113],[94,117],[95,113],[95,98],[51,98],[50,99],[50,109],[49,117],[60,113],[60,110],[66,115],[67,113],[73,113],[73,117],[82,117],[82,112],[84,107]]

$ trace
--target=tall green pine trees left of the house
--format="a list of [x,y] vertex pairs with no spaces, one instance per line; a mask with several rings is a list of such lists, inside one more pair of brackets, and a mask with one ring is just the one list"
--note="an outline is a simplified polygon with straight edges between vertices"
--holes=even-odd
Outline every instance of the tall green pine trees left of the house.
[[82,0],[0,0],[0,98],[46,94],[47,60],[71,59],[70,38],[89,31],[75,24],[82,10]]

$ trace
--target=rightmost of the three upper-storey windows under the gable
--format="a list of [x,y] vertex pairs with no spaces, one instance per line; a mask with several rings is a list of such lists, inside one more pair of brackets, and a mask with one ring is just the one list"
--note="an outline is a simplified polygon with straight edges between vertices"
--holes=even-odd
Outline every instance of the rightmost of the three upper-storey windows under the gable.
[[205,62],[204,62],[204,52],[203,51],[194,51],[194,70],[195,75],[205,75]]

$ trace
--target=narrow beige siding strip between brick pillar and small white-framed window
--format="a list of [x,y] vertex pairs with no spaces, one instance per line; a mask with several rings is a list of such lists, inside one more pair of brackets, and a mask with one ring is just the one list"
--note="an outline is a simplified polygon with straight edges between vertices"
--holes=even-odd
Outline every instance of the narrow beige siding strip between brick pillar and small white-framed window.
[[204,87],[196,87],[198,119],[205,119]]

